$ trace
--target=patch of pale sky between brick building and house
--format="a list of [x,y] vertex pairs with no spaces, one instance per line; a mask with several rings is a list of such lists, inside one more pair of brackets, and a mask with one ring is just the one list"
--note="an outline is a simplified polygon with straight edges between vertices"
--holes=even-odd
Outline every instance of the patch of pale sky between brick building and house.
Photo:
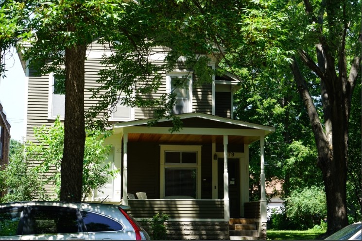
[[5,78],[0,79],[0,102],[11,125],[11,139],[25,138],[26,79],[19,57],[14,49],[5,57]]

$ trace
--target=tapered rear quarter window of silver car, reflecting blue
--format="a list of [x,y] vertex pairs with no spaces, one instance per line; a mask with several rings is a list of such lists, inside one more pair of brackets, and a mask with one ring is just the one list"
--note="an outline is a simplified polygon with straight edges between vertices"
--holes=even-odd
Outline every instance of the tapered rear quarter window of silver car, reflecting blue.
[[123,226],[116,220],[97,213],[80,211],[88,232],[119,231]]

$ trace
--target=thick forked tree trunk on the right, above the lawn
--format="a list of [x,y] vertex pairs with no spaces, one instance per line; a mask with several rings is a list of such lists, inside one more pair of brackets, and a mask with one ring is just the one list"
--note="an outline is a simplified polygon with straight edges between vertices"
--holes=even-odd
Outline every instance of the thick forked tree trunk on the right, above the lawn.
[[[303,53],[301,54],[303,55]],[[307,58],[305,60],[308,61]],[[330,111],[324,115],[325,118],[328,117],[325,122],[328,122],[328,126],[331,128],[328,129],[328,126],[325,126],[326,130],[324,130],[308,90],[307,82],[303,78],[295,58],[291,64],[294,79],[309,115],[317,145],[317,165],[323,174],[327,198],[327,233],[336,232],[348,225],[346,203],[347,142],[350,99],[355,81],[355,76],[353,77],[354,68],[356,68],[356,64],[352,66],[349,80],[345,79],[346,73],[340,73],[338,79],[324,78],[321,80],[322,87],[325,86],[326,82],[327,84],[332,81],[334,83],[333,91],[329,91],[328,94],[325,93],[325,88],[322,88],[322,102],[324,105],[329,105],[324,106],[324,111]],[[330,76],[329,78],[333,79]],[[323,100],[323,98],[328,98],[328,101]]]

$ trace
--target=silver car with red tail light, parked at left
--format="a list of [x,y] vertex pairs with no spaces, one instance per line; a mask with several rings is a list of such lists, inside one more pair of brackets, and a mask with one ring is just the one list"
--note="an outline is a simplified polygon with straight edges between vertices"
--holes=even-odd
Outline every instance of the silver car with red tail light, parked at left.
[[150,240],[128,209],[99,203],[0,204],[0,240]]

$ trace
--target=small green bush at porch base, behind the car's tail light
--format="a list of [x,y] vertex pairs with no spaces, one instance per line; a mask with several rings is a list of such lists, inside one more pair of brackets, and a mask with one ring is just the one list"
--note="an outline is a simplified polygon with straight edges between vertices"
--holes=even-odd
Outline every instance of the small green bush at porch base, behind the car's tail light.
[[169,219],[167,214],[157,213],[152,219],[142,219],[145,229],[150,235],[151,240],[166,240],[167,238],[167,224]]

